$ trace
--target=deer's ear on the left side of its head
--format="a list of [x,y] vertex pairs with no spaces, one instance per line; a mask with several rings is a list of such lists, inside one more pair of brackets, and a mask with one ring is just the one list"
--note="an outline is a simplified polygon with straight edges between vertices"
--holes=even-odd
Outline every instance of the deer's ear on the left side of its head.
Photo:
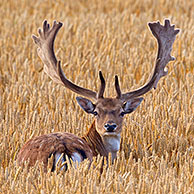
[[93,113],[95,109],[95,105],[88,100],[87,98],[76,97],[76,100],[80,107],[87,113]]

